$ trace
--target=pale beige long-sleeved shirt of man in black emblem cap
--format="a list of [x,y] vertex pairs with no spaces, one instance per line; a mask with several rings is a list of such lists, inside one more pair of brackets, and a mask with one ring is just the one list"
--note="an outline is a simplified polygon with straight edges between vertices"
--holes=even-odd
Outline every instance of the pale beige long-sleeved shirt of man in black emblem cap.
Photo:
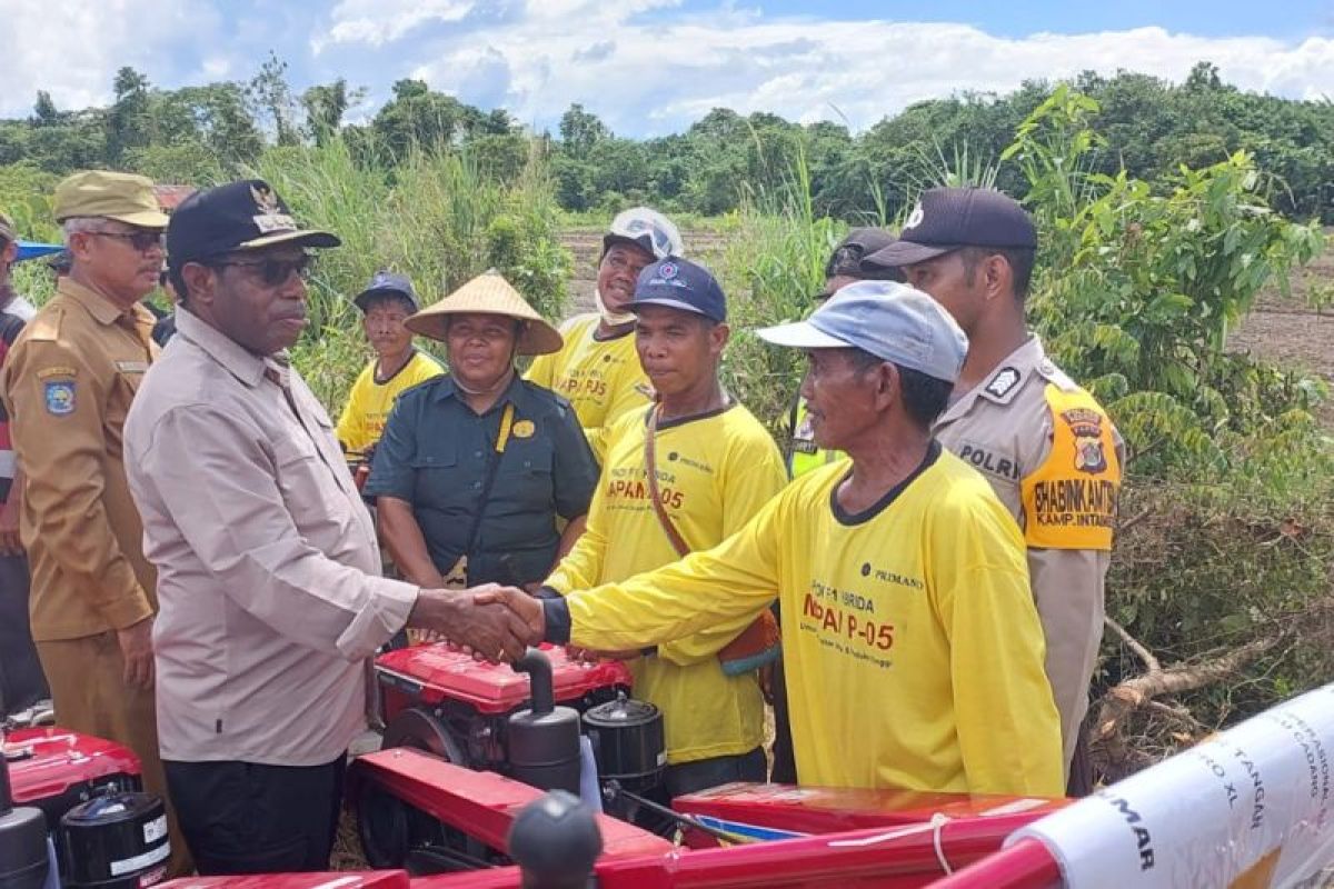
[[367,658],[418,588],[380,554],[334,424],[299,375],[188,311],[125,424],[157,566],[164,760],[321,765],[366,726]]

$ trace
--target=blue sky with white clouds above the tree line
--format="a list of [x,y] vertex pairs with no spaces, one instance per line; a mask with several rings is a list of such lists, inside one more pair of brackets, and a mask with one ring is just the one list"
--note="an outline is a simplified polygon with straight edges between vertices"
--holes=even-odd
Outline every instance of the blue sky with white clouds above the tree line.
[[1083,69],[1334,100],[1334,0],[0,0],[0,117],[105,104],[121,65],[157,87],[248,79],[275,51],[301,89],[346,77],[374,113],[419,77],[555,129],[570,103],[619,135],[711,108],[864,129],[922,99]]

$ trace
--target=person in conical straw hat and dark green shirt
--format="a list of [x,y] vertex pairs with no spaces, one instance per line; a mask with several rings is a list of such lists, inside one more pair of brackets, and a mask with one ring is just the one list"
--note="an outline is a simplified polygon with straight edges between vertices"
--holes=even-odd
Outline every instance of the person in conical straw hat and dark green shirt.
[[598,482],[574,409],[514,367],[558,351],[560,333],[494,272],[406,324],[447,344],[450,373],[399,396],[375,452],[364,493],[386,546],[423,588],[540,581]]

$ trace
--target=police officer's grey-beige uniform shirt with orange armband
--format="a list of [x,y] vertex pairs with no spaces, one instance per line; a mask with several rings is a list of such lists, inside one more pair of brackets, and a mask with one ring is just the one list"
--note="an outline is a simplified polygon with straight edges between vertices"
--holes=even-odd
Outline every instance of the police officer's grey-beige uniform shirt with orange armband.
[[991,482],[1025,532],[1069,764],[1102,641],[1121,436],[1037,336],[951,404],[935,435]]

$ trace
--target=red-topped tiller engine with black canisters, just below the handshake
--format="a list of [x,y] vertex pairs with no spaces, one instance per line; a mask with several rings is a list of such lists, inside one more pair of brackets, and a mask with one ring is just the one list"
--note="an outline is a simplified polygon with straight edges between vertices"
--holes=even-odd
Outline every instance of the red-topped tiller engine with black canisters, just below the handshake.
[[[624,664],[572,661],[551,645],[530,649],[514,666],[484,664],[438,644],[388,652],[375,668],[387,750],[411,748],[544,790],[579,792],[586,777],[594,778],[582,768],[583,736],[602,793],[612,786],[646,790],[660,780],[662,713],[627,697],[631,677]],[[440,872],[498,860],[494,848],[446,828],[386,788],[371,782],[354,796],[362,846],[375,866]]]

